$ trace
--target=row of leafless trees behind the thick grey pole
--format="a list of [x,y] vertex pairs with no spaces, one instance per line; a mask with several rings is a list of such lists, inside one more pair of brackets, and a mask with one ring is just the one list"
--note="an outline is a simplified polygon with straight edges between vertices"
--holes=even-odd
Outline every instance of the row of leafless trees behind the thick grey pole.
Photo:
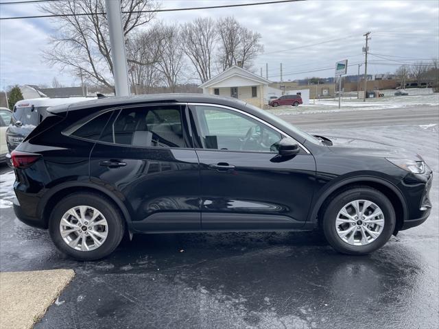
[[[159,6],[155,0],[121,0],[130,83],[137,93],[163,84],[174,91],[177,84],[206,82],[237,64],[254,69],[254,58],[263,52],[261,34],[233,16],[165,24],[155,20]],[[64,15],[56,18],[59,29],[44,52],[47,62],[73,71],[88,84],[112,88],[106,15],[93,14],[105,12],[104,0],[54,1],[39,7],[47,14]]]

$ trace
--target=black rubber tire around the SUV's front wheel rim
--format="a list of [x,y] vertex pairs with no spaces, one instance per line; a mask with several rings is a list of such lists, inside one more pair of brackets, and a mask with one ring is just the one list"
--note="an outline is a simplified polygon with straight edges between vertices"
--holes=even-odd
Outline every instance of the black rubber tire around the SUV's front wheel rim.
[[[338,236],[335,229],[335,220],[337,219],[338,212],[349,202],[356,199],[366,199],[374,202],[381,208],[384,216],[384,227],[381,234],[367,245],[350,245],[343,241]],[[328,243],[337,252],[350,255],[366,255],[370,252],[381,248],[393,234],[396,223],[396,216],[392,203],[383,193],[367,186],[358,186],[350,188],[329,200],[327,207],[324,210],[322,219],[322,230]]]

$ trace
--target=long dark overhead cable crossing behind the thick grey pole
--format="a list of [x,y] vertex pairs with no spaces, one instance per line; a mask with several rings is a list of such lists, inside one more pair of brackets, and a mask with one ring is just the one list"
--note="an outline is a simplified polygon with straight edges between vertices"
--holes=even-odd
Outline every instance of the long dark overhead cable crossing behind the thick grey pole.
[[[37,0],[35,0],[37,1]],[[40,0],[42,1],[42,0]],[[54,0],[52,0],[54,1]],[[59,0],[58,0],[59,1]],[[128,12],[122,12],[123,14],[141,14],[147,12],[182,12],[185,10],[203,10],[203,9],[218,9],[218,8],[235,8],[235,7],[246,7],[250,5],[272,5],[274,3],[288,3],[288,2],[298,2],[306,0],[277,0],[277,1],[265,1],[257,3],[239,3],[237,5],[209,5],[204,7],[189,7],[189,8],[169,8],[169,9],[158,9],[158,10],[130,10]],[[18,16],[18,17],[1,17],[0,20],[10,20],[10,19],[43,19],[48,17],[69,17],[69,16],[91,16],[91,15],[105,15],[105,12],[80,12],[78,14],[52,14],[52,15],[40,15],[40,16]]]

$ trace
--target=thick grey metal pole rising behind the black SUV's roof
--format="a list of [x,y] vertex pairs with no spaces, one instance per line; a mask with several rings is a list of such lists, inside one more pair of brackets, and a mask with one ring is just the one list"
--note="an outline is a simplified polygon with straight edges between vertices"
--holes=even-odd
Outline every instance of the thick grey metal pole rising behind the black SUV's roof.
[[125,53],[125,37],[122,31],[120,0],[105,0],[108,30],[110,32],[112,71],[115,77],[116,96],[129,96],[128,67]]

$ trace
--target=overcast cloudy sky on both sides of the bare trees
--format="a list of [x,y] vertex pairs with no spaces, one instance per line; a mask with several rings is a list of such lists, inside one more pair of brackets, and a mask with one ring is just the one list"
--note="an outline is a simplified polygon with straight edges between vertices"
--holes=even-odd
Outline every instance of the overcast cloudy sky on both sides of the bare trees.
[[[17,0],[0,0],[1,2]],[[261,0],[257,0],[261,1]],[[265,0],[266,1],[266,0]],[[250,3],[250,0],[163,0],[162,8]],[[38,15],[33,4],[0,5],[0,16]],[[264,53],[255,61],[257,73],[268,63],[268,77],[283,80],[333,76],[337,60],[349,64],[364,61],[361,47],[365,32],[370,34],[368,73],[393,72],[399,64],[439,56],[439,0],[427,1],[302,1],[241,8],[162,12],[158,20],[184,23],[196,17],[217,19],[235,16],[237,21],[261,34]],[[0,21],[0,86],[47,84],[54,77],[67,86],[78,85],[68,70],[49,67],[41,55],[47,39],[57,29],[49,19]],[[337,40],[334,40],[337,39]],[[322,43],[324,42],[324,43]],[[319,44],[319,45],[316,45]],[[364,66],[361,71],[364,70]],[[312,72],[315,71],[315,72]],[[348,68],[357,74],[357,66]]]

